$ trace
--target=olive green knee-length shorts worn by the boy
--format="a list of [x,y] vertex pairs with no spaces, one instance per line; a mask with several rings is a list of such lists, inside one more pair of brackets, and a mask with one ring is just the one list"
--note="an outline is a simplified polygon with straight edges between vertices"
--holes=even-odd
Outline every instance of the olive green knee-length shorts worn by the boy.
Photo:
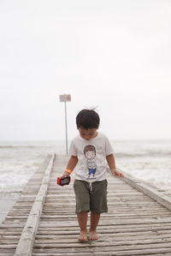
[[76,213],[82,211],[108,212],[107,187],[107,180],[92,183],[75,180]]

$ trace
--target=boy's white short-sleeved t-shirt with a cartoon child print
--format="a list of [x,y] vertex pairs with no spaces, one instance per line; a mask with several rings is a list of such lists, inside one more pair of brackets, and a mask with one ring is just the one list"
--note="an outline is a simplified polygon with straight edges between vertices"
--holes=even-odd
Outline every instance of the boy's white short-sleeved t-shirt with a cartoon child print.
[[76,180],[85,182],[105,180],[106,156],[113,153],[113,148],[104,134],[98,133],[91,140],[85,140],[78,135],[72,140],[69,152],[79,160],[75,167]]

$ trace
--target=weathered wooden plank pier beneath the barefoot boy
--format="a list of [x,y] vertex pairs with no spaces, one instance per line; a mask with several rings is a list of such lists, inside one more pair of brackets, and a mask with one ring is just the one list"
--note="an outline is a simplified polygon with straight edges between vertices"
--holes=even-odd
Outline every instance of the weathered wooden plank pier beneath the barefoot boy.
[[47,156],[0,225],[1,256],[171,255],[171,200],[129,176],[108,174],[109,212],[98,241],[78,242],[74,189],[56,185],[68,158]]

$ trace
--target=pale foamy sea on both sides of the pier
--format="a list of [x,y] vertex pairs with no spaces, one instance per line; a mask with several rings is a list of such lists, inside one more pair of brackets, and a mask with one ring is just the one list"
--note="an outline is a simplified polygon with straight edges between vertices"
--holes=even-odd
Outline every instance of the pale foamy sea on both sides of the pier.
[[[171,140],[111,143],[118,169],[156,188],[171,190]],[[54,152],[65,154],[65,141],[0,141],[0,193],[21,193],[47,154]]]

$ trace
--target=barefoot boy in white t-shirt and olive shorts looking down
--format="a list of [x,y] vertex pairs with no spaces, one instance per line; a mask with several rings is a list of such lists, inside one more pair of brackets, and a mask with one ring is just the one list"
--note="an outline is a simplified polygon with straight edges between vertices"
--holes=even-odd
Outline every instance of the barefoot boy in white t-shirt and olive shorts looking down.
[[[76,125],[80,135],[71,143],[67,168],[63,175],[75,170],[74,193],[76,213],[80,225],[79,241],[98,239],[97,224],[102,212],[108,211],[106,160],[111,173],[123,177],[115,170],[115,158],[108,138],[98,133],[100,118],[95,110],[81,110],[76,116]],[[91,211],[91,226],[87,232],[87,215]],[[88,235],[88,237],[87,237]]]

